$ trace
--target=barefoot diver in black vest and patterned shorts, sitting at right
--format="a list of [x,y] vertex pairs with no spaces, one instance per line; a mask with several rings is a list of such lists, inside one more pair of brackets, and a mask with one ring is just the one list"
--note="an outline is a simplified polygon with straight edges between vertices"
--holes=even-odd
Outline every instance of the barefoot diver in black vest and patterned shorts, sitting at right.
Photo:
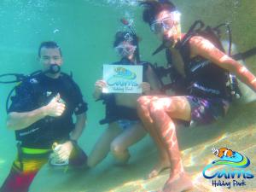
[[172,52],[172,64],[177,72],[174,84],[179,89],[177,96],[140,97],[138,113],[161,150],[162,158],[152,175],[171,167],[163,191],[181,192],[192,188],[193,184],[183,169],[175,120],[183,120],[189,125],[214,122],[229,108],[227,74],[236,75],[254,91],[256,78],[210,38],[196,31],[193,35],[181,33],[180,13],[169,0],[146,0],[142,4],[143,20],[152,32],[169,43],[166,49]]

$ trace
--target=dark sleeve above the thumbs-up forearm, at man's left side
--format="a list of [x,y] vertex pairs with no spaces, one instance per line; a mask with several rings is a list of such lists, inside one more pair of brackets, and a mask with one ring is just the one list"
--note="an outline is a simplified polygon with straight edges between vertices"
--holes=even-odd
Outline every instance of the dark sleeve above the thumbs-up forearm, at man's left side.
[[8,113],[32,111],[35,107],[33,101],[32,84],[23,82],[17,85],[15,88],[15,96],[11,97],[11,101],[12,103],[9,107]]

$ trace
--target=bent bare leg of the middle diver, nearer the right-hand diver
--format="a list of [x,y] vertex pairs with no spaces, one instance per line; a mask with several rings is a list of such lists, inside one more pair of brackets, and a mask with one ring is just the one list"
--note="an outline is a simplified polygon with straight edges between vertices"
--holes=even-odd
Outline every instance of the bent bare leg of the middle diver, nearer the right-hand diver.
[[143,129],[141,123],[131,125],[131,127],[125,129],[118,137],[114,138],[111,143],[111,152],[116,160],[118,160],[119,165],[125,164],[129,158],[130,154],[128,148],[140,141],[145,137],[147,132]]

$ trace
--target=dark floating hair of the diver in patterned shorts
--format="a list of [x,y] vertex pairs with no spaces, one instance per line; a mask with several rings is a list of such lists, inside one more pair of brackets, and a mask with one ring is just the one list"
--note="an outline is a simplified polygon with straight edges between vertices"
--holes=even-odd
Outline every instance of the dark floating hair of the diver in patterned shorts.
[[149,25],[154,21],[155,16],[163,10],[174,11],[175,5],[169,0],[146,0],[140,3],[144,7],[143,20]]

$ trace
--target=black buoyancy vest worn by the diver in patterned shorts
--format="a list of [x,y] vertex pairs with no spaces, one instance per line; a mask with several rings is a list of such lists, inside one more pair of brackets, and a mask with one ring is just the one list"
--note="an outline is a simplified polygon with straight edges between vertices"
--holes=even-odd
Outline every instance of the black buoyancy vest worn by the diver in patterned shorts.
[[[201,25],[196,29],[198,24]],[[172,89],[178,90],[178,93],[183,95],[231,100],[230,87],[227,86],[230,73],[201,55],[196,55],[193,58],[190,57],[189,39],[194,36],[207,38],[207,40],[224,52],[219,37],[214,32],[218,27],[212,29],[212,27],[207,26],[203,29],[203,26],[204,24],[201,20],[195,21],[189,28],[189,32],[175,46],[183,59],[185,78],[177,73],[175,67],[172,67],[174,74],[172,75]],[[170,49],[166,49],[166,58],[168,63],[172,63]]]

